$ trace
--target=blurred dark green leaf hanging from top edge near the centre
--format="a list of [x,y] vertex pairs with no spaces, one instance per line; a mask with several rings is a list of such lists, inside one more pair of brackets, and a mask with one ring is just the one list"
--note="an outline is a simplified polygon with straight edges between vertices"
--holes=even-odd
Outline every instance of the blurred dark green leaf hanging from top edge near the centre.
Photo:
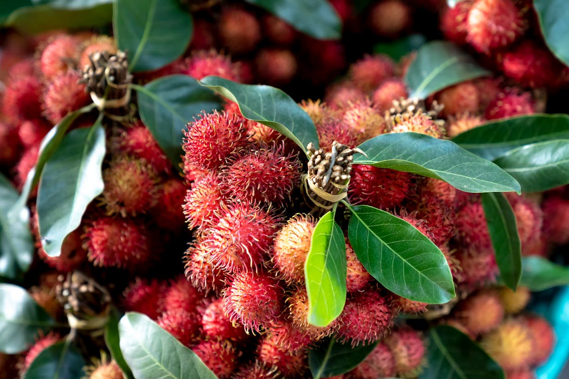
[[326,0],[245,0],[289,23],[316,39],[340,39],[342,22]]

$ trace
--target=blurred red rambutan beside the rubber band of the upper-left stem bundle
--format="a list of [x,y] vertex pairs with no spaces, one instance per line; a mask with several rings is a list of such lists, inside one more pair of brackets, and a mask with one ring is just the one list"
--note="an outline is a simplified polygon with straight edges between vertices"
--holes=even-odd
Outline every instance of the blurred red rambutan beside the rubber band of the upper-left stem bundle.
[[85,91],[85,84],[79,83],[81,74],[69,70],[53,78],[43,95],[46,118],[57,124],[69,112],[89,104],[91,99]]

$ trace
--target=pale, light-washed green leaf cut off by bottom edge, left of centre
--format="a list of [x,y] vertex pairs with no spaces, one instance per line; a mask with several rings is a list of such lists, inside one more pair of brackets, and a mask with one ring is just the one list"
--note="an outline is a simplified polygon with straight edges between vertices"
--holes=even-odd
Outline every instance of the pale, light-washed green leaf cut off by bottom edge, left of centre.
[[122,355],[137,379],[216,379],[193,351],[146,315],[127,313],[118,332]]

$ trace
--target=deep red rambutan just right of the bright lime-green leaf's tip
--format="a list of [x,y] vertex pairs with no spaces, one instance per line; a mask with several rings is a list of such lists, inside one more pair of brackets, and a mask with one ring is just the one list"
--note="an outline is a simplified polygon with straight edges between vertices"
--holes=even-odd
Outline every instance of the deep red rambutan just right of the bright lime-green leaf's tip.
[[377,290],[368,290],[352,294],[338,319],[338,340],[357,346],[385,336],[393,323],[393,314]]

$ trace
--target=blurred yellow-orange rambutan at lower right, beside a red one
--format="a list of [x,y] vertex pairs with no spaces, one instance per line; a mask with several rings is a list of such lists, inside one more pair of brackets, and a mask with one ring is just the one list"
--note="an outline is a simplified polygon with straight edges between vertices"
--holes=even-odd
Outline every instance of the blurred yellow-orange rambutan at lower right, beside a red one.
[[505,370],[527,369],[532,363],[534,340],[523,320],[505,320],[480,345]]

